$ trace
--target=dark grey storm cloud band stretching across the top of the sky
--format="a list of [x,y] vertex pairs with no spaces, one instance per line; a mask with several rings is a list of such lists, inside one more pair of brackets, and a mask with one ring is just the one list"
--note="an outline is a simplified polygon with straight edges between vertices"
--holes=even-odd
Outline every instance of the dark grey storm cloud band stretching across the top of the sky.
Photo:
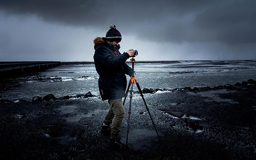
[[[1,0],[7,14],[95,27],[149,41],[256,43],[255,0]],[[99,35],[100,36],[100,35]]]

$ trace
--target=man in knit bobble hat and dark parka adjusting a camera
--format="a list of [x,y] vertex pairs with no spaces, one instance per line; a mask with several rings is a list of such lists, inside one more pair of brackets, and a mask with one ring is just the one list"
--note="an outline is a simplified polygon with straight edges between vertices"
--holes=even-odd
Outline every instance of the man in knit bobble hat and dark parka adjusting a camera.
[[[114,148],[125,148],[119,139],[120,127],[125,116],[122,97],[125,96],[127,80],[125,74],[131,76],[132,69],[125,61],[134,55],[133,49],[121,54],[119,43],[121,33],[115,25],[111,25],[106,37],[94,39],[95,54],[93,56],[95,68],[99,74],[99,92],[102,100],[107,100],[110,109],[102,125],[102,134],[111,136]],[[112,124],[112,125],[111,125]]]

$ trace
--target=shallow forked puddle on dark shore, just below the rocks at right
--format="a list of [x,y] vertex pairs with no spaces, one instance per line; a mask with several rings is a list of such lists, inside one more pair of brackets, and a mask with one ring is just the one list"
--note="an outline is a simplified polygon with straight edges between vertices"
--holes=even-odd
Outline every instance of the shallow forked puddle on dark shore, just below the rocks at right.
[[188,92],[189,94],[192,95],[199,95],[199,96],[204,96],[204,97],[208,97],[209,99],[205,99],[205,102],[230,102],[230,103],[239,103],[236,101],[233,101],[232,99],[223,99],[221,97],[218,96],[218,94],[222,94],[222,93],[235,93],[236,90],[226,90],[226,89],[222,89],[222,90],[210,90],[210,91],[202,91],[202,92],[198,92],[198,93],[194,93],[194,92]]

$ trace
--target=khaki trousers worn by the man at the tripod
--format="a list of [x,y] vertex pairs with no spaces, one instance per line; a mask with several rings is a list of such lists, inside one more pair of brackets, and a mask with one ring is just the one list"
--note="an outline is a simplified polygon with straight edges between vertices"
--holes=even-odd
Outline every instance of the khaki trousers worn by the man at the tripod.
[[110,108],[104,123],[106,125],[112,123],[111,138],[116,138],[121,133],[120,127],[125,116],[125,108],[122,99],[110,99],[108,103],[110,104]]

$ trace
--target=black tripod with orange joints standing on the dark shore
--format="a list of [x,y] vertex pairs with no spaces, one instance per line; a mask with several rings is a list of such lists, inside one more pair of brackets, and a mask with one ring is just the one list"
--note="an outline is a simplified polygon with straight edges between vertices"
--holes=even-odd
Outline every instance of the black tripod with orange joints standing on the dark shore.
[[148,111],[148,115],[150,116],[150,119],[151,119],[151,121],[152,121],[152,124],[153,124],[153,126],[154,126],[154,129],[155,129],[155,131],[156,131],[156,133],[157,133],[157,137],[158,137],[159,140],[160,140],[159,134],[158,134],[158,132],[157,132],[157,128],[156,128],[156,126],[155,126],[155,124],[154,124],[154,121],[153,121],[153,119],[152,119],[152,116],[151,116],[151,114],[150,114],[150,112],[149,112],[149,108],[148,108],[148,105],[146,104],[146,101],[145,101],[144,96],[143,96],[143,94],[142,94],[142,91],[141,91],[139,82],[137,81],[137,79],[135,79],[135,75],[134,75],[134,63],[135,63],[135,58],[134,58],[134,57],[131,58],[131,63],[132,63],[132,76],[131,76],[131,79],[130,79],[130,81],[129,81],[129,84],[128,84],[128,87],[127,87],[127,90],[126,90],[126,93],[125,93],[125,99],[124,99],[124,102],[123,102],[123,105],[125,105],[125,100],[126,100],[126,97],[127,97],[127,95],[128,95],[129,88],[131,87],[131,90],[130,90],[130,104],[129,104],[129,111],[128,111],[128,126],[127,126],[127,131],[126,131],[126,146],[128,145],[128,134],[129,134],[130,116],[131,116],[131,99],[132,99],[132,93],[133,93],[132,91],[133,91],[133,84],[134,84],[134,81],[136,82],[137,88],[138,88],[138,90],[139,90],[139,92],[140,92],[140,96],[142,97],[143,102],[144,102],[144,104],[145,104],[145,107],[146,107],[146,109],[147,109],[147,111]]

